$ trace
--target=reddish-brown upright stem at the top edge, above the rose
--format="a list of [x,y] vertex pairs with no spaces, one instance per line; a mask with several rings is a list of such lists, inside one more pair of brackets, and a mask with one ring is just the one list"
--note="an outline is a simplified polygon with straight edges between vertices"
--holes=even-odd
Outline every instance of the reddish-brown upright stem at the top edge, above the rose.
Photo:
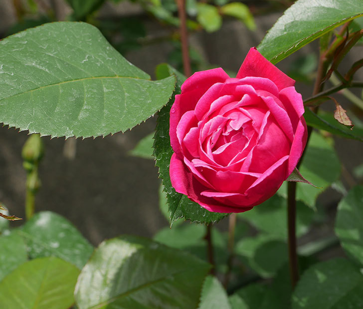
[[188,50],[188,31],[186,28],[186,13],[185,13],[185,0],[176,0],[178,6],[178,15],[180,20],[180,35],[181,35],[181,53],[183,60],[184,75],[189,77],[191,75],[189,50]]

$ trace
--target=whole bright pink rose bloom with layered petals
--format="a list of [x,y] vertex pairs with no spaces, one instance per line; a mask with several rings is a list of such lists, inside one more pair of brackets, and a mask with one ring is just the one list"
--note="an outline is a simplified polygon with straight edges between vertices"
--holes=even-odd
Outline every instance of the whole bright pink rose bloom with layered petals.
[[261,204],[295,169],[307,128],[295,81],[251,48],[237,77],[196,72],[170,111],[170,178],[212,212]]

